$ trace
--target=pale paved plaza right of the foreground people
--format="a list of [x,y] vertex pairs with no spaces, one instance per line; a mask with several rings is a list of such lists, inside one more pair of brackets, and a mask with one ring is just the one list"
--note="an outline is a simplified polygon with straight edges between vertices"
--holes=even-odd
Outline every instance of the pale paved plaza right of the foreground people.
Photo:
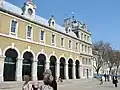
[[[119,83],[120,85],[120,83]],[[114,87],[112,82],[104,82],[100,85],[97,80],[91,80],[86,82],[76,82],[74,84],[59,85],[59,90],[120,90],[120,87]]]

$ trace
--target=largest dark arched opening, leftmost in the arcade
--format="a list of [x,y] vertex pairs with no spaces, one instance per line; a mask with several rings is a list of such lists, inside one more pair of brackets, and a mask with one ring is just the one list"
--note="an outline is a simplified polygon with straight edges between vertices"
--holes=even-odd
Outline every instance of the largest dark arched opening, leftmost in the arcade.
[[13,48],[8,48],[4,55],[4,81],[15,81],[18,52]]

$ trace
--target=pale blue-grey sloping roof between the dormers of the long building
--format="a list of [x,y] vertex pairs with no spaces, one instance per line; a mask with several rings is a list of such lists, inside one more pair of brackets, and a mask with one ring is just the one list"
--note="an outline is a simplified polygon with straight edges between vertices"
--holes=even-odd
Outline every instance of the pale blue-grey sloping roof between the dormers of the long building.
[[[20,16],[22,16],[22,13],[23,13],[23,11],[20,7],[17,7],[17,6],[15,6],[15,5],[13,5],[9,2],[6,2],[6,1],[3,2],[3,7],[2,8],[7,10],[7,11],[13,12],[17,15],[20,15]],[[29,17],[27,17],[27,18],[29,19]],[[49,26],[48,20],[43,18],[43,17],[40,17],[38,15],[35,15],[35,17],[34,17],[34,19],[32,19],[32,21],[35,21],[35,22],[38,22],[40,24]],[[72,37],[77,38],[76,34],[73,31],[71,31],[70,33],[66,33],[65,27],[62,27],[58,24],[56,24],[55,26],[56,26],[56,30],[58,30],[59,32],[62,32],[62,33],[65,33],[67,35],[70,35]]]

